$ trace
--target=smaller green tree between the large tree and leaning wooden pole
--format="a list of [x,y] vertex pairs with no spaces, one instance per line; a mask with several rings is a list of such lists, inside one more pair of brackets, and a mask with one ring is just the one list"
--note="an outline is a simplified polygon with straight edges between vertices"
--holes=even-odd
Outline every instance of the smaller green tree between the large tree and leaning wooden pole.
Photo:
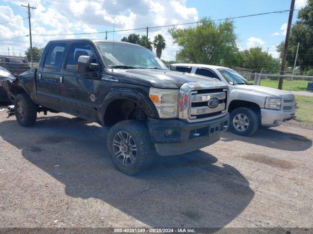
[[240,66],[261,72],[264,68],[266,73],[277,73],[279,71],[280,60],[274,59],[261,47],[253,47],[240,52]]

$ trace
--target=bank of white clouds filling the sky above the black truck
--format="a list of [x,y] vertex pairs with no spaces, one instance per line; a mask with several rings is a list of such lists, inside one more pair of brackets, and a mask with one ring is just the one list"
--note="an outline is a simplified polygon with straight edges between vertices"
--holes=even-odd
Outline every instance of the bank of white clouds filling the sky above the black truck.
[[[20,0],[5,0],[20,6]],[[36,34],[70,34],[87,32],[97,32],[97,28],[111,30],[115,21],[115,30],[130,28],[145,28],[147,26],[159,26],[167,24],[184,23],[198,20],[198,12],[193,7],[186,7],[186,0],[143,0],[140,3],[130,3],[129,0],[69,0],[47,1],[37,0],[33,3],[37,7],[32,10],[32,33],[33,45],[45,46],[51,39],[64,38],[100,38],[104,34],[81,35],[81,36],[49,36],[41,37]],[[3,8],[3,9],[2,9]],[[2,11],[1,11],[2,9]],[[25,18],[25,15],[14,14],[8,6],[0,6],[0,22]],[[187,26],[182,26],[187,27]],[[115,33],[115,40],[120,40],[130,33],[145,35],[145,30],[125,31]],[[178,46],[172,43],[172,38],[168,33],[168,28],[149,29],[149,38],[161,33],[166,41],[167,47],[162,53],[162,59],[175,59]],[[27,20],[21,20],[9,24],[0,24],[0,39],[8,39],[28,34]],[[108,39],[112,39],[112,33],[108,34]],[[21,48],[22,54],[29,46],[28,38],[14,39],[12,41],[2,41],[0,51],[14,45]],[[4,43],[3,43],[4,42]],[[3,48],[2,48],[3,47]],[[1,52],[3,53],[3,52]]]

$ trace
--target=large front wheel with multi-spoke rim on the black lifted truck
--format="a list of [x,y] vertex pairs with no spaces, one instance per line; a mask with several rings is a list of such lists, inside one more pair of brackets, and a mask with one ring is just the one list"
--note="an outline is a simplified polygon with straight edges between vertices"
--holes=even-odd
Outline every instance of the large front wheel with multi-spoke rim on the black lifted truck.
[[127,175],[146,169],[156,156],[148,126],[135,120],[116,123],[109,132],[107,146],[115,167]]

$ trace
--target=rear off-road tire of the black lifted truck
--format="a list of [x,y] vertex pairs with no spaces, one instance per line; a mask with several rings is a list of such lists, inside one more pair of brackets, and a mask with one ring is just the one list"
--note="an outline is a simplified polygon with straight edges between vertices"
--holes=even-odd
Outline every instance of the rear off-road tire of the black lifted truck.
[[[19,113],[19,107],[22,104],[23,115]],[[37,105],[29,98],[27,94],[18,94],[14,101],[14,111],[16,119],[22,127],[29,127],[35,124],[37,118]]]

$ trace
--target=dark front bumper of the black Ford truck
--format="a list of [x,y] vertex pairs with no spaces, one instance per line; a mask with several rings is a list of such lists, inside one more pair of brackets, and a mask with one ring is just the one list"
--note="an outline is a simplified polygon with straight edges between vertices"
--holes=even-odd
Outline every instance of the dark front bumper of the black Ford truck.
[[201,149],[220,140],[228,128],[229,114],[197,123],[178,119],[148,119],[149,132],[156,152],[161,156],[180,155]]

